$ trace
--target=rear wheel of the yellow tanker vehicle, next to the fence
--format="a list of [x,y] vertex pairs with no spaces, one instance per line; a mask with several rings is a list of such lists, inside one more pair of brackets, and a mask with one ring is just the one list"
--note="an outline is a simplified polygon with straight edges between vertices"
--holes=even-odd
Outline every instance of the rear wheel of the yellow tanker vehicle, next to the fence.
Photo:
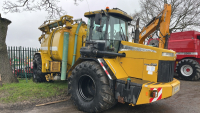
[[33,58],[33,82],[46,82],[45,74],[42,73],[41,56],[38,54]]

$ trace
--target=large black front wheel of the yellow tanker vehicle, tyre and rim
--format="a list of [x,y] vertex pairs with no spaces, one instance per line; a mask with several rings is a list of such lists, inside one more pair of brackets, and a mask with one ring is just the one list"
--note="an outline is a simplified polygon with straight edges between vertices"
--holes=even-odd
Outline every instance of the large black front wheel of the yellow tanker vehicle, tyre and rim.
[[84,112],[101,112],[117,103],[105,72],[94,61],[85,61],[75,67],[68,88],[74,105]]

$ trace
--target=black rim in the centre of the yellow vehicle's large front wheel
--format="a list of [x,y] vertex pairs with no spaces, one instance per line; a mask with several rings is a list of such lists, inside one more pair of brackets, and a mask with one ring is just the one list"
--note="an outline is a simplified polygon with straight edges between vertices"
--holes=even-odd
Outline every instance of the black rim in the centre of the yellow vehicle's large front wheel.
[[83,75],[78,82],[78,92],[85,101],[91,101],[96,95],[96,85],[92,77]]

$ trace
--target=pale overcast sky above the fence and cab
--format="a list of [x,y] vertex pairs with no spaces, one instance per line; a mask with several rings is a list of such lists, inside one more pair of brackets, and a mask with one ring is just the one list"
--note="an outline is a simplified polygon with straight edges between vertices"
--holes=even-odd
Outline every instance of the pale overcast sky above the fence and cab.
[[[47,12],[21,12],[4,14],[2,5],[4,0],[0,0],[0,13],[3,18],[12,21],[8,26],[8,33],[6,38],[7,46],[24,46],[24,47],[40,47],[38,38],[41,31],[38,27],[47,20]],[[132,14],[135,10],[139,11],[139,0],[83,0],[78,2],[79,5],[74,5],[74,0],[60,0],[59,6],[67,12],[67,15],[73,16],[74,19],[82,18],[87,22],[84,13],[100,9],[105,9],[106,6],[110,8],[120,8],[121,10]]]

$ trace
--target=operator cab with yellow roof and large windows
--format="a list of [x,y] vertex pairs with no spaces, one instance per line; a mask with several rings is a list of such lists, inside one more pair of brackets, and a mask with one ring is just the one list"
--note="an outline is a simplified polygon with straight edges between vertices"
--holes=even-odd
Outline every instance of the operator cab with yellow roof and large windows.
[[121,41],[128,41],[128,22],[132,17],[114,8],[86,12],[88,17],[86,47],[118,53]]

